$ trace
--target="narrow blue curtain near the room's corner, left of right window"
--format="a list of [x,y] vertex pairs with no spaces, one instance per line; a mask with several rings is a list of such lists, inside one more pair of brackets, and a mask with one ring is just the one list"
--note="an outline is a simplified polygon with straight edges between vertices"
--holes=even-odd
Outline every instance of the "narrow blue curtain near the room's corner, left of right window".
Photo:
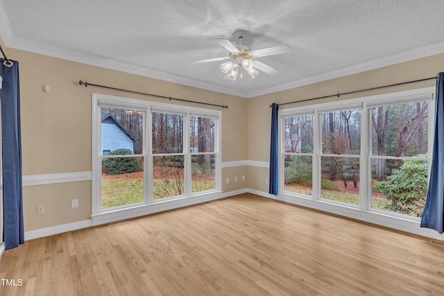
[[278,110],[279,105],[271,105],[271,145],[270,175],[268,193],[278,195]]

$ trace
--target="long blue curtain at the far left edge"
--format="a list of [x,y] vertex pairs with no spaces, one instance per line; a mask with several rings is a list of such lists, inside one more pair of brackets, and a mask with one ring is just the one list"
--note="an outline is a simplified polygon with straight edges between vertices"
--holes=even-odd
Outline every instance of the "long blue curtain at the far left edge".
[[3,242],[6,250],[24,243],[22,205],[22,139],[20,132],[19,63],[0,59],[1,148],[3,164]]

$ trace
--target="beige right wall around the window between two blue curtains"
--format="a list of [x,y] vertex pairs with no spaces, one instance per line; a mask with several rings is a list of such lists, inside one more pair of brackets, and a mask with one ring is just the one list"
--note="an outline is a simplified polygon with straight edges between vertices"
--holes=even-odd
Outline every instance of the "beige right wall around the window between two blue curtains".
[[[316,98],[320,96],[329,96],[343,92],[351,92],[357,89],[368,89],[381,85],[391,85],[398,82],[418,80],[422,78],[434,77],[440,71],[443,71],[444,54],[433,55],[427,58],[421,58],[410,62],[394,64],[392,66],[365,71],[355,75],[343,76],[323,82],[305,85],[288,89],[282,92],[275,92],[264,96],[257,96],[248,99],[248,160],[257,162],[268,162],[269,159],[269,141],[270,141],[270,120],[271,103],[287,103]],[[289,107],[324,103],[327,101],[337,101],[347,98],[358,98],[375,94],[384,94],[389,92],[399,92],[407,89],[416,89],[421,87],[434,86],[434,80],[427,82],[418,82],[400,87],[390,87],[379,89],[372,92],[363,92],[354,95],[341,96],[340,98],[330,98],[305,103],[296,103],[280,106],[280,110]],[[248,188],[268,192],[268,185],[265,179],[268,177],[268,168],[249,167],[248,168]]]

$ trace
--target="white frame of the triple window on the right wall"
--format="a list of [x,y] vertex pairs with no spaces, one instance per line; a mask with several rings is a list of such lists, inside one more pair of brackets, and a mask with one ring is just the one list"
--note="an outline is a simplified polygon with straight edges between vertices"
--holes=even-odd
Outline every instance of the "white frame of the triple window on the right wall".
[[[435,88],[426,87],[422,89],[412,89],[403,92],[394,92],[388,94],[381,94],[376,96],[364,96],[361,98],[352,98],[340,102],[320,103],[310,105],[309,107],[293,107],[280,110],[280,159],[279,159],[279,195],[278,199],[300,204],[314,209],[320,209],[333,214],[341,216],[348,216],[350,218],[357,218],[365,220],[370,223],[385,225],[401,229],[408,232],[424,235],[423,232],[427,230],[419,229],[420,218],[411,217],[389,211],[382,211],[371,208],[371,178],[368,177],[371,169],[370,159],[371,155],[371,132],[372,125],[368,112],[377,105],[400,105],[403,103],[412,103],[416,101],[429,101],[429,121],[428,121],[428,168],[430,175],[431,157],[432,157],[432,143],[434,132],[434,97]],[[359,157],[359,206],[352,204],[343,204],[321,198],[320,189],[320,170],[321,170],[321,124],[320,116],[325,112],[334,112],[337,110],[361,109],[361,154],[352,155],[352,157]],[[289,116],[298,116],[302,114],[314,114],[314,155],[313,155],[313,188],[312,195],[302,195],[284,190],[284,119]],[[370,198],[368,198],[370,197]]]

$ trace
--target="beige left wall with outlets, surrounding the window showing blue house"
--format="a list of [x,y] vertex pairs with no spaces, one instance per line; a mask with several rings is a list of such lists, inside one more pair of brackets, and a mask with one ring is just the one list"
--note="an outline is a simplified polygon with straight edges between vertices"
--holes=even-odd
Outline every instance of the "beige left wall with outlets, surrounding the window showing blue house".
[[[35,53],[6,50],[8,58],[19,61],[25,176],[91,171],[93,92],[168,103],[161,98],[83,87],[78,85],[78,80],[228,105],[228,109],[224,110],[212,107],[222,110],[222,160],[233,162],[247,159],[246,98]],[[43,92],[43,85],[49,85],[49,93]],[[187,105],[204,107],[191,103]],[[234,181],[235,176],[241,175],[246,175],[245,167],[223,169],[224,178],[230,177]],[[223,182],[222,189],[225,192],[244,189],[244,184],[246,182]],[[78,199],[77,209],[71,209],[71,199]],[[38,204],[45,205],[45,214],[37,215]],[[25,231],[87,220],[90,215],[90,181],[24,187]]]

